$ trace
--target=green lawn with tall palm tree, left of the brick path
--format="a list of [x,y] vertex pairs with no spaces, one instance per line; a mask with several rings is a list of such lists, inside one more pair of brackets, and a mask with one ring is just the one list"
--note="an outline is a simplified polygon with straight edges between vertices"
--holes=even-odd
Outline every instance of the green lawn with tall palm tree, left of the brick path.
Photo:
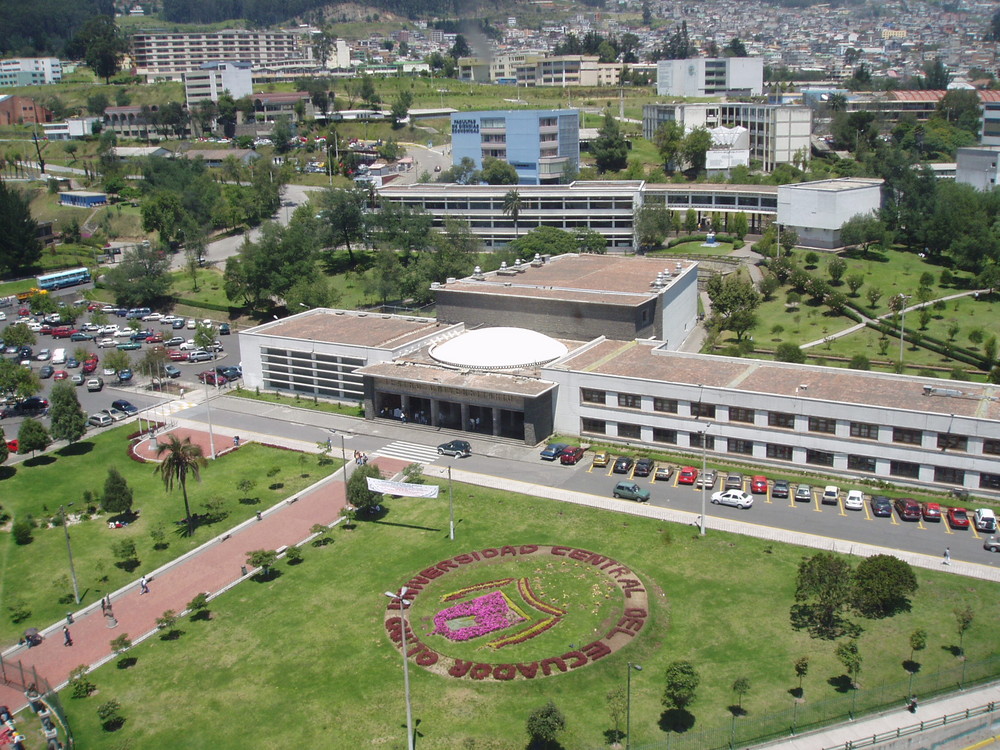
[[[49,528],[48,522],[58,516],[61,504],[72,503],[68,508],[71,516],[96,506],[98,503],[88,500],[86,493],[103,493],[109,467],[116,467],[125,477],[134,492],[133,508],[141,515],[124,529],[109,529],[107,515],[78,523],[74,519],[71,523],[73,559],[84,604],[97,601],[136,577],[134,572],[115,566],[111,552],[114,542],[133,540],[142,569],[152,570],[250,517],[254,511],[309,486],[341,463],[338,459],[320,466],[316,456],[253,443],[210,461],[202,471],[202,481],[189,484],[188,494],[192,513],[204,514],[206,505],[212,503],[217,505],[219,517],[197,527],[188,537],[183,525],[178,524],[184,517],[180,492],[168,494],[160,478],[153,474],[155,464],[138,463],[126,453],[125,436],[135,429],[134,424],[120,427],[18,466],[0,467],[3,512],[14,519],[30,515],[39,523],[30,544],[16,545],[10,534],[0,539],[0,641],[13,642],[25,627],[23,622],[11,621],[10,608],[15,602],[22,602],[31,611],[29,624],[53,622],[73,608],[66,542],[62,529]],[[274,475],[268,476],[272,471]],[[59,481],[59,477],[71,479]],[[237,484],[243,479],[253,481],[255,486],[241,492]],[[249,498],[254,500],[248,502]],[[166,532],[166,548],[154,549],[150,529],[155,527]],[[42,560],[52,564],[39,565]]]

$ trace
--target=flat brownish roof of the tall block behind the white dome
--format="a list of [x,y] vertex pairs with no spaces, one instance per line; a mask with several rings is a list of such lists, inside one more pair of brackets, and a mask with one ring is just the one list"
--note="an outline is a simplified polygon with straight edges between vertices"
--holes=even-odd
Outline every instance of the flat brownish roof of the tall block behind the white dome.
[[[623,258],[618,255],[556,255],[541,265],[522,263],[519,272],[508,268],[442,284],[439,289],[469,294],[563,299],[616,305],[641,304],[697,264],[673,258]],[[652,286],[657,274],[662,287]]]

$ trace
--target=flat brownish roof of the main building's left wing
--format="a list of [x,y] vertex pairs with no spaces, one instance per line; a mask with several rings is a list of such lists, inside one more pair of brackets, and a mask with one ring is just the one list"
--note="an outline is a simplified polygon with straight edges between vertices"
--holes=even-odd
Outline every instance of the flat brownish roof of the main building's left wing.
[[434,318],[318,308],[250,328],[242,335],[278,336],[325,344],[394,349],[449,326]]

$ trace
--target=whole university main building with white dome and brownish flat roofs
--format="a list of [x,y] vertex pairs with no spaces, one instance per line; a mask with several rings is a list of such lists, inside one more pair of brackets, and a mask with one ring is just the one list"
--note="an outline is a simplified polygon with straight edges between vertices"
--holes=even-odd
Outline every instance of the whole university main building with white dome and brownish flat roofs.
[[536,257],[435,285],[436,319],[318,309],[252,328],[244,377],[456,434],[1000,491],[1000,388],[682,353],[697,277],[684,260]]

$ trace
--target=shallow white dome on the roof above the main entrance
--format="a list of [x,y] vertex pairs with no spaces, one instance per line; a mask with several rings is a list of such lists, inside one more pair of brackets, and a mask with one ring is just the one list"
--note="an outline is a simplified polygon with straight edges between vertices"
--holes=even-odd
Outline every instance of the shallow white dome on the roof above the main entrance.
[[526,328],[480,328],[431,347],[430,355],[470,370],[514,370],[551,362],[567,351],[564,344]]

